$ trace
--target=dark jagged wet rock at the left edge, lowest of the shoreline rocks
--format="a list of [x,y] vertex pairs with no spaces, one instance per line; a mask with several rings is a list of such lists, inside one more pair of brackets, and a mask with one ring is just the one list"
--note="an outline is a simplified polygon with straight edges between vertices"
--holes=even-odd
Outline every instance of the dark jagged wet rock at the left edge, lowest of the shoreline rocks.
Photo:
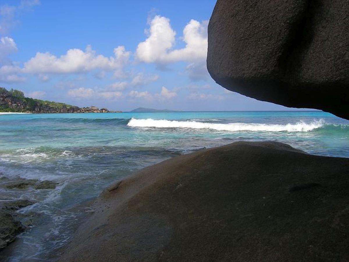
[[22,224],[13,215],[0,210],[0,250],[16,239],[16,235],[24,231]]

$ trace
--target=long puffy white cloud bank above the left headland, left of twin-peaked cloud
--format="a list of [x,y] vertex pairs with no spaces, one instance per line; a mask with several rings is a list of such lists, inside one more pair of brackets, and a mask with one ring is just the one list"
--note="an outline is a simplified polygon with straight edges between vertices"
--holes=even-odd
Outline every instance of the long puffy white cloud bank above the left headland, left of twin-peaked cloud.
[[114,57],[96,55],[88,45],[86,50],[69,49],[66,54],[56,57],[46,52],[37,52],[35,57],[24,63],[23,72],[33,74],[82,73],[100,69],[115,71],[116,77],[124,75],[123,68],[128,63],[130,52],[124,46],[114,49]]

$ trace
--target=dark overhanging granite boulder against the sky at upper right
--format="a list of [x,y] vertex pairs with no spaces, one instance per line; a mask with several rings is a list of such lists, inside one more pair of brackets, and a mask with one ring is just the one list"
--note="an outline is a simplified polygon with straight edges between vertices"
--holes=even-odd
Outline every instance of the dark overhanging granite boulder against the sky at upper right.
[[207,68],[240,94],[349,119],[349,1],[218,0]]

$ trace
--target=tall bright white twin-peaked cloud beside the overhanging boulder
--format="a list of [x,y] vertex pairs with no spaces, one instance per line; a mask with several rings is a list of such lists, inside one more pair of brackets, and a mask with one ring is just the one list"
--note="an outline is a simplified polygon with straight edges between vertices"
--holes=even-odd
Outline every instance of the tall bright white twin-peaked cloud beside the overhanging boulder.
[[150,22],[148,38],[139,43],[136,57],[145,63],[158,64],[203,61],[207,56],[207,25],[207,21],[200,23],[192,19],[183,30],[185,47],[171,50],[176,32],[168,18],[157,15]]

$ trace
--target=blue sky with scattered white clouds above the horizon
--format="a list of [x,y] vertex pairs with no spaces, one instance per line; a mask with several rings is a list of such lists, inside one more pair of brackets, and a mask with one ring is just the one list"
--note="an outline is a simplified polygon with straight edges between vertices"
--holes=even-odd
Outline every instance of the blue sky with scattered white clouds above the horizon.
[[292,110],[207,72],[214,0],[1,0],[0,86],[80,107]]

